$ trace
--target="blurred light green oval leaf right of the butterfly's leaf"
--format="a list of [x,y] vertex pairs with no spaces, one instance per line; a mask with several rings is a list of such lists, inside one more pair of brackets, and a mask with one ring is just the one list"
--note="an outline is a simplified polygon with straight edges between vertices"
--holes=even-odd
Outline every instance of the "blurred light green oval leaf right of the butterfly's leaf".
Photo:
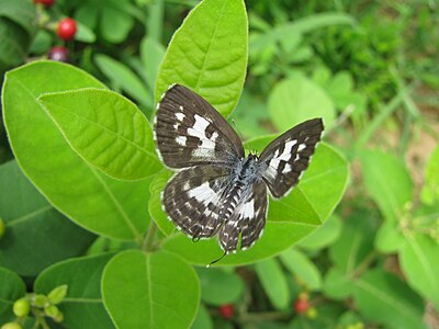
[[404,162],[378,150],[361,150],[361,169],[368,192],[387,220],[401,220],[412,201],[413,182]]

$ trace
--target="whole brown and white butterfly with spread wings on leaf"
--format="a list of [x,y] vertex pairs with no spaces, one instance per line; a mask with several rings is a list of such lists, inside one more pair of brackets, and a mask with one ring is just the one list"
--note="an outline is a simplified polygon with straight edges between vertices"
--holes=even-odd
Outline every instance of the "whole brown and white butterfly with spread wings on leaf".
[[193,240],[218,235],[224,254],[250,248],[262,235],[268,195],[299,182],[320,140],[322,118],[299,124],[258,156],[245,156],[226,120],[202,97],[173,84],[157,104],[154,138],[177,173],[161,194],[164,211]]

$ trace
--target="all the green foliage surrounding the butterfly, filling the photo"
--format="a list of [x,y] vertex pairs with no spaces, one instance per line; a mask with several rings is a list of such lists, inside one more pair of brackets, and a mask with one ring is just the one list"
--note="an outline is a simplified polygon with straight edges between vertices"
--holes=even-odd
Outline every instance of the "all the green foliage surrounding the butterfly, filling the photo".
[[[35,60],[63,16],[75,66]],[[1,2],[0,326],[431,327],[438,18],[420,2]],[[260,240],[210,269],[217,239],[188,239],[161,206],[153,121],[172,83],[251,152],[325,123]]]

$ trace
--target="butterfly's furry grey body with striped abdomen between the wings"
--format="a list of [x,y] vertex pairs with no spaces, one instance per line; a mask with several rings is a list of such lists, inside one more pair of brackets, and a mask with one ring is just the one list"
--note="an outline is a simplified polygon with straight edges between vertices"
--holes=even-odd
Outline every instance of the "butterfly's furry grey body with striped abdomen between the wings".
[[259,179],[258,164],[258,157],[250,154],[234,167],[230,184],[219,211],[219,218],[226,220],[230,217],[239,202],[246,200],[247,195],[251,193],[251,185]]

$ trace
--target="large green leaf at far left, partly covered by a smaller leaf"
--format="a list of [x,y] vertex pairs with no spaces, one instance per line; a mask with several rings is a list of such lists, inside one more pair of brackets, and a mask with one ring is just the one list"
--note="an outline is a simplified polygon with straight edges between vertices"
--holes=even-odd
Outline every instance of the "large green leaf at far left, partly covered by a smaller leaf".
[[148,226],[144,197],[149,181],[120,181],[99,172],[69,147],[37,102],[43,93],[82,88],[104,86],[55,61],[36,61],[8,72],[2,105],[12,150],[27,178],[75,223],[115,239],[142,240]]

